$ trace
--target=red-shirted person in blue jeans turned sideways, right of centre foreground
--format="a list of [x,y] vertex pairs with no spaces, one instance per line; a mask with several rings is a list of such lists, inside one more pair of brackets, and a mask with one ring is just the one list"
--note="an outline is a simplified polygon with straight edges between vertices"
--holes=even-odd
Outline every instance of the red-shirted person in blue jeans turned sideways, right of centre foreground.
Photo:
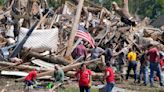
[[115,84],[115,79],[114,79],[114,72],[112,68],[110,67],[109,63],[106,63],[104,79],[106,80],[106,83],[107,83],[105,87],[105,92],[112,92],[112,89]]

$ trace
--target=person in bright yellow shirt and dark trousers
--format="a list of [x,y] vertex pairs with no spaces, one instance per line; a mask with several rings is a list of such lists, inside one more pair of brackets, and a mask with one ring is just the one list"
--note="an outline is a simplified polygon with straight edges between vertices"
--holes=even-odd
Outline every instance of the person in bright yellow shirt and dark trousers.
[[132,51],[132,49],[129,49],[128,53],[128,70],[127,70],[127,75],[126,75],[126,80],[128,80],[129,73],[131,69],[134,71],[134,82],[137,80],[137,54]]

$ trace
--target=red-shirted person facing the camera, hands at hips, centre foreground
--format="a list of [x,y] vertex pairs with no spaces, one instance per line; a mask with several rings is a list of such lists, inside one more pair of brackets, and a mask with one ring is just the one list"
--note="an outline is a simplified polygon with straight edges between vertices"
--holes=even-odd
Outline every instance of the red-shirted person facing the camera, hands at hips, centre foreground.
[[92,72],[86,68],[85,64],[82,64],[80,70],[76,72],[75,76],[79,81],[80,92],[90,92]]

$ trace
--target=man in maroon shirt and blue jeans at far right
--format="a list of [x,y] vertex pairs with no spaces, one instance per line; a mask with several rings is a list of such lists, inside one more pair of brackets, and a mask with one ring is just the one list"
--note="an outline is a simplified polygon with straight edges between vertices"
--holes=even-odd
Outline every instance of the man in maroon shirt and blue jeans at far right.
[[159,64],[159,50],[156,46],[149,45],[149,50],[147,52],[148,61],[150,62],[150,86],[154,86],[154,71],[157,72],[157,76],[159,77],[160,86],[163,86],[162,76],[161,76],[161,68]]

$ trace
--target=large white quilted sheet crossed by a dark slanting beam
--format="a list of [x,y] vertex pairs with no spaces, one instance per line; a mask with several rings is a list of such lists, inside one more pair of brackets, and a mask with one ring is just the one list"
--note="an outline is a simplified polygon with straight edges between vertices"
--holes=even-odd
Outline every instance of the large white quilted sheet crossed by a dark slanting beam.
[[[21,28],[19,34],[19,42],[26,36],[29,29]],[[9,36],[13,36],[13,28],[8,31]],[[45,29],[45,30],[34,30],[30,37],[27,39],[24,47],[34,49],[48,49],[52,51],[57,50],[58,44],[58,28]]]

